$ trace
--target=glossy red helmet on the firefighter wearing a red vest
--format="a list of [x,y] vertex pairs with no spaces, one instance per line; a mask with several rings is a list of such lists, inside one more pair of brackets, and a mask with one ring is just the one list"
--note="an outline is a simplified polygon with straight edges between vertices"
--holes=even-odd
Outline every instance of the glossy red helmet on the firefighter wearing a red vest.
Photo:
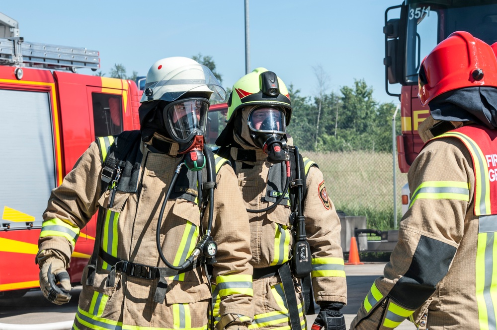
[[490,45],[469,32],[454,32],[421,62],[418,83],[423,106],[454,89],[497,87],[496,55]]

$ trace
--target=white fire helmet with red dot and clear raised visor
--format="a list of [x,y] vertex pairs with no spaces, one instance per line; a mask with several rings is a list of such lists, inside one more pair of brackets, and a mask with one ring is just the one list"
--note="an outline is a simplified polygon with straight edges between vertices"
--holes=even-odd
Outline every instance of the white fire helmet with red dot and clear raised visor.
[[150,67],[140,103],[172,102],[187,92],[206,93],[215,101],[226,99],[226,91],[207,66],[186,57],[169,57]]

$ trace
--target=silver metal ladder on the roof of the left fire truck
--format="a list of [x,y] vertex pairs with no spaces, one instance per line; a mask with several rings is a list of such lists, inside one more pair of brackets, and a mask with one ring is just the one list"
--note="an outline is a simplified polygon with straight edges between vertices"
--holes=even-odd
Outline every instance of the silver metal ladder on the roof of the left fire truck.
[[97,51],[86,48],[24,42],[19,37],[17,21],[0,13],[0,65],[31,66],[70,70],[87,67],[100,68]]

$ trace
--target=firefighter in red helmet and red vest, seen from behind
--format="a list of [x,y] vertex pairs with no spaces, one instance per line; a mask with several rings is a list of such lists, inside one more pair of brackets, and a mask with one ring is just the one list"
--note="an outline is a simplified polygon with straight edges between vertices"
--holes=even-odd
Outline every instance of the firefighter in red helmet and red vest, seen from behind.
[[497,61],[468,32],[440,42],[419,68],[431,115],[409,170],[410,208],[384,276],[351,329],[496,329]]

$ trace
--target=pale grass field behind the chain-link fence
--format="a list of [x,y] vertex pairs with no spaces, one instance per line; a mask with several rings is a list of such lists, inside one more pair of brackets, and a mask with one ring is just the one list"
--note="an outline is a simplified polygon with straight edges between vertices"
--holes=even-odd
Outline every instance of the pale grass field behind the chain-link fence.
[[[315,161],[325,177],[326,191],[336,209],[367,217],[369,228],[394,226],[393,159],[391,153],[366,151],[317,153],[301,151]],[[407,173],[396,165],[397,221],[401,219],[401,189]]]

